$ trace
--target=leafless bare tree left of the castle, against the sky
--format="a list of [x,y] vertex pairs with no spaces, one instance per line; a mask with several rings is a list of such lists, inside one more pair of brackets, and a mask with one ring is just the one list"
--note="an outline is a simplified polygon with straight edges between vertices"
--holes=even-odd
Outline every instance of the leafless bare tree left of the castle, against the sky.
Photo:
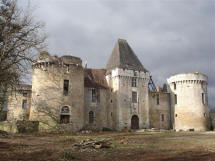
[[30,12],[17,4],[17,0],[0,1],[0,113],[5,91],[20,83],[33,62],[33,53],[44,48],[46,39],[43,24],[34,22]]

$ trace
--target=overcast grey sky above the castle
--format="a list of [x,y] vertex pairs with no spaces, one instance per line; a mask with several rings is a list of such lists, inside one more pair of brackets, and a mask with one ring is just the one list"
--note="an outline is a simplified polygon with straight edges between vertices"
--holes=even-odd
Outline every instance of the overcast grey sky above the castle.
[[117,39],[126,39],[156,85],[179,72],[208,75],[209,103],[215,105],[215,0],[31,2],[36,20],[46,24],[51,54],[104,68]]

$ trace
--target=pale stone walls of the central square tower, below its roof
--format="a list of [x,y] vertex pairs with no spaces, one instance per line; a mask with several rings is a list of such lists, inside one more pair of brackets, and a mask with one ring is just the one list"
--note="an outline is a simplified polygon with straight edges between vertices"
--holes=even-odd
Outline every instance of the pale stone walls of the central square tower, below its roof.
[[[149,73],[116,68],[107,75],[112,88],[113,117],[116,130],[130,129],[131,118],[139,118],[139,128],[149,127],[148,81]],[[136,78],[137,86],[132,87],[132,78]],[[137,102],[132,102],[132,91],[137,92]]]

